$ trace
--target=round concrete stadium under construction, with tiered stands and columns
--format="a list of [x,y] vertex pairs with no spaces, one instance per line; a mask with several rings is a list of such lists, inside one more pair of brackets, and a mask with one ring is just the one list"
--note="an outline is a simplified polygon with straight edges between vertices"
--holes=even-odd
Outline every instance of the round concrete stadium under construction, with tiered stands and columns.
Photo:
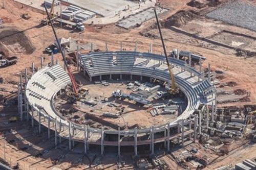
[[[77,52],[78,94],[65,68],[53,62],[18,84],[20,118],[32,127],[48,129],[61,139],[84,143],[84,153],[122,152],[151,155],[175,144],[196,140],[208,130],[216,114],[216,89],[210,71],[202,71],[202,58],[188,54],[168,57],[179,93],[173,85],[165,57],[137,51]],[[197,62],[193,62],[197,61]],[[197,63],[197,64],[195,64]],[[210,69],[208,69],[210,70]],[[207,127],[207,128],[203,128]]]

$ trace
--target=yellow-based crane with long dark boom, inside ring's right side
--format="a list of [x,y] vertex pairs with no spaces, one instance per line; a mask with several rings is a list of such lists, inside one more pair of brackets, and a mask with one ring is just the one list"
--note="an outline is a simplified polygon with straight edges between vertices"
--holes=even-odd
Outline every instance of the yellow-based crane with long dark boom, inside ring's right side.
[[170,94],[178,94],[178,93],[179,93],[179,89],[178,89],[178,87],[176,86],[175,77],[174,77],[174,75],[173,75],[172,68],[171,68],[171,66],[170,66],[169,60],[168,60],[168,58],[167,58],[167,53],[166,53],[166,49],[165,49],[165,45],[164,45],[164,41],[163,41],[163,36],[162,36],[162,32],[161,32],[160,25],[159,25],[159,21],[158,21],[156,9],[154,9],[154,12],[155,12],[155,15],[156,15],[157,26],[158,26],[159,34],[160,34],[161,41],[162,41],[162,45],[163,45],[163,51],[164,51],[165,59],[166,59],[167,66],[168,66],[168,71],[169,71],[169,75],[170,75],[170,80],[172,81],[172,84],[170,84],[170,87],[169,87],[168,92],[169,92]]

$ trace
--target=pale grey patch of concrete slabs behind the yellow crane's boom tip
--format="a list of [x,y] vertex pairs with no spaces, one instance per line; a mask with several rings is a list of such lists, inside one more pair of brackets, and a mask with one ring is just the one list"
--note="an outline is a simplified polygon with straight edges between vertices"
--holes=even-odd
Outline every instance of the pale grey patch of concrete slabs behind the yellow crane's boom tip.
[[[157,14],[160,14],[166,11],[168,10],[163,8],[157,8]],[[143,22],[153,17],[155,17],[155,13],[153,8],[150,8],[121,20],[120,22],[118,22],[117,26],[125,29],[130,29],[136,26],[140,26]]]

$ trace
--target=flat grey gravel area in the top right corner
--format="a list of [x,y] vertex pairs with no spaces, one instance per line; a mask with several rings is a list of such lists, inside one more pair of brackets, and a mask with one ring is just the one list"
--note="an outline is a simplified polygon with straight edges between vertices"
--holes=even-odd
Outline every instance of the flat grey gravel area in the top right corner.
[[241,1],[227,3],[206,14],[231,25],[256,31],[256,7]]

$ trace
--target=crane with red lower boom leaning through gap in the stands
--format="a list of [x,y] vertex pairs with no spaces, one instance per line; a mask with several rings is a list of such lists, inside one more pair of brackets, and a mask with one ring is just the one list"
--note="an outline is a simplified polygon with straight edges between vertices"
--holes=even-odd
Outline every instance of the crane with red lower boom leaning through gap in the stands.
[[53,30],[55,39],[56,39],[56,41],[57,41],[59,51],[60,51],[60,53],[61,53],[61,56],[62,56],[62,58],[63,58],[63,61],[64,61],[64,63],[65,63],[65,66],[66,66],[66,68],[67,68],[67,70],[68,70],[68,75],[69,75],[70,80],[71,80],[71,83],[72,83],[73,92],[77,95],[78,90],[77,90],[77,84],[76,84],[74,75],[72,74],[72,72],[71,72],[71,70],[70,70],[70,67],[68,66],[67,60],[66,60],[66,58],[65,58],[65,56],[64,56],[64,54],[63,54],[63,51],[61,50],[61,46],[60,46],[60,43],[59,43],[57,34],[56,34],[55,29],[54,29],[54,27],[53,27],[53,23],[52,23],[52,20],[51,20],[50,15],[49,15],[49,13],[48,13],[48,11],[47,11],[46,4],[45,4],[45,3],[44,3],[44,7],[45,7],[45,9],[46,9],[47,17],[48,17],[48,19],[49,19],[49,21],[50,21],[50,23],[51,23],[51,27],[52,27],[52,30]]

